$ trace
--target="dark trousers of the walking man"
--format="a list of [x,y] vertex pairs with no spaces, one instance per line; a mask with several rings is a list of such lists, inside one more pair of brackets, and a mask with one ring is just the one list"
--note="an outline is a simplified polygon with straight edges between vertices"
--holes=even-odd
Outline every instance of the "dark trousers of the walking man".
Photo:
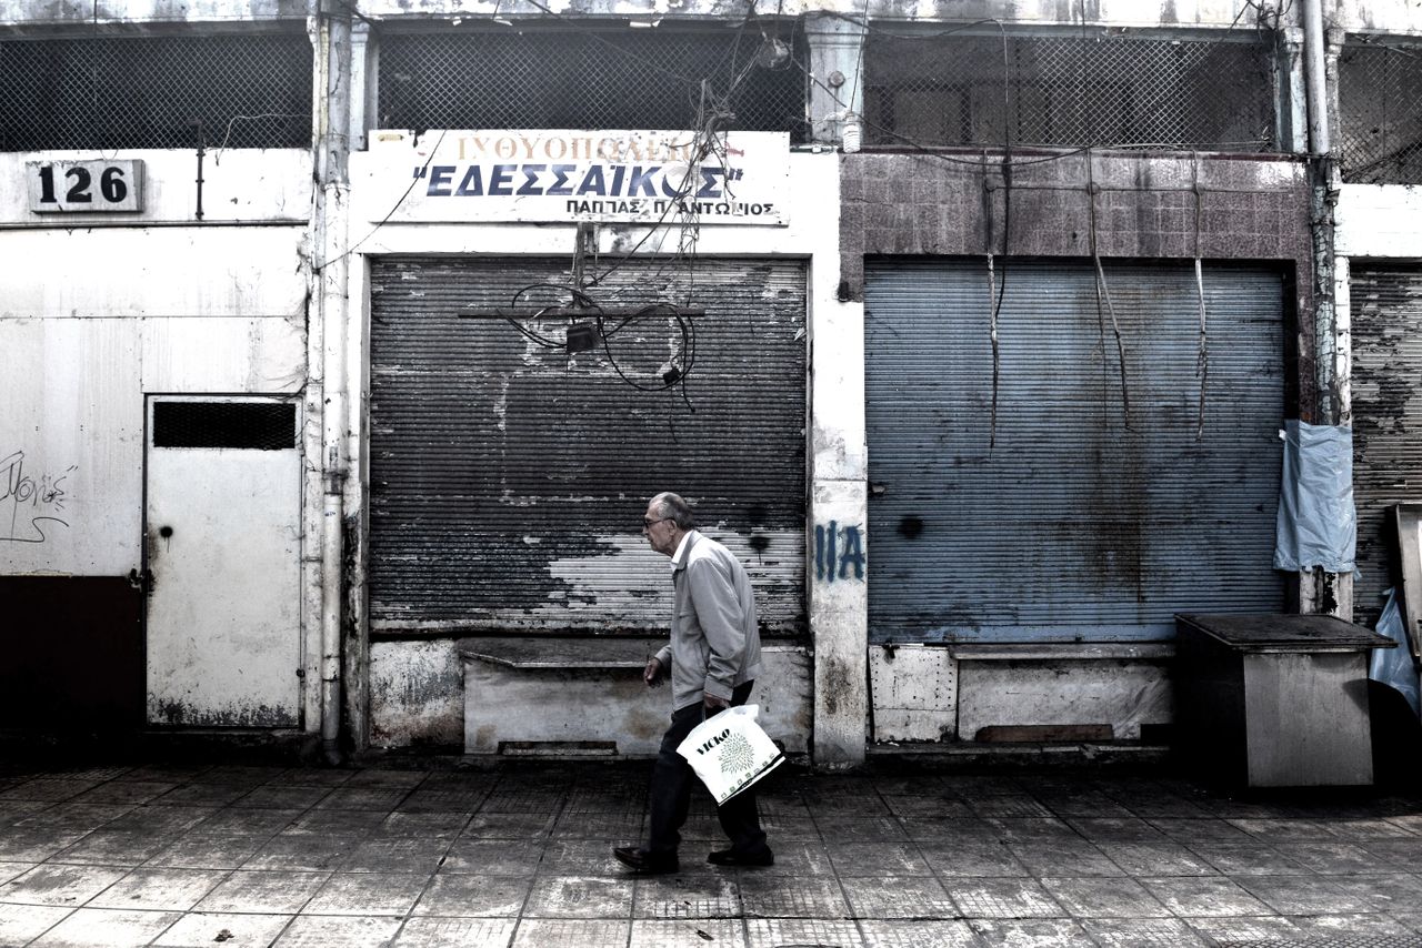
[[[732,705],[744,705],[751,696],[754,681],[739,685],[731,692]],[[691,806],[691,789],[701,783],[695,770],[677,748],[691,729],[705,721],[705,709],[697,702],[671,715],[671,728],[661,739],[657,766],[651,770],[651,829],[647,834],[647,851],[657,856],[675,856],[681,843],[681,827],[687,822]],[[755,787],[741,790],[717,809],[721,829],[731,840],[731,849],[738,853],[755,853],[765,846],[765,831],[761,830],[761,816],[755,810]]]

